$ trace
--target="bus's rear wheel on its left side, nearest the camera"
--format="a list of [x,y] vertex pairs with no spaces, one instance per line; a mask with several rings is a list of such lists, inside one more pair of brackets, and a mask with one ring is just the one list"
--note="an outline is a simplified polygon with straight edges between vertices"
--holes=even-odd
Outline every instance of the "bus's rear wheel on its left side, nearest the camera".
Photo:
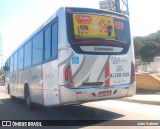
[[31,110],[32,109],[32,102],[30,98],[30,92],[28,86],[25,87],[25,103],[27,106],[27,109]]

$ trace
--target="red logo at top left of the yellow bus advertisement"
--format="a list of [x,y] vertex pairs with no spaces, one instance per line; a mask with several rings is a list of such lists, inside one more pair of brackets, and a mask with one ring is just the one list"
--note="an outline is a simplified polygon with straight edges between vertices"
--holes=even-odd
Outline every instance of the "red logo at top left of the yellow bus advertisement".
[[90,24],[92,18],[90,16],[77,15],[76,20],[80,24]]

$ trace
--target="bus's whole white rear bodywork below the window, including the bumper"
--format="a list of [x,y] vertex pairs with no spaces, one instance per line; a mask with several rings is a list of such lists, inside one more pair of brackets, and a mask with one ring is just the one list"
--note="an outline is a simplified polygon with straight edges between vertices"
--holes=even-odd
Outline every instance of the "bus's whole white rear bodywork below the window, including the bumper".
[[[127,53],[119,55],[77,54],[69,42],[62,46],[59,52],[59,57],[62,57],[59,58],[59,84],[63,85],[61,89],[67,97],[60,90],[61,103],[73,102],[70,101],[73,98],[76,102],[76,97],[77,102],[83,102],[135,94],[135,83],[131,82],[132,64],[135,64],[132,41]],[[68,66],[72,75],[72,86],[65,83]]]

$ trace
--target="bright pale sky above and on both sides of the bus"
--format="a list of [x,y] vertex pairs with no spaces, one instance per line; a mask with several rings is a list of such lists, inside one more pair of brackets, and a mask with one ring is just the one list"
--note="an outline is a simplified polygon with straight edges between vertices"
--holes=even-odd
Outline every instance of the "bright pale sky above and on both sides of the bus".
[[[102,0],[0,0],[0,33],[6,58],[61,6],[99,8]],[[159,0],[128,0],[132,36],[160,30]]]

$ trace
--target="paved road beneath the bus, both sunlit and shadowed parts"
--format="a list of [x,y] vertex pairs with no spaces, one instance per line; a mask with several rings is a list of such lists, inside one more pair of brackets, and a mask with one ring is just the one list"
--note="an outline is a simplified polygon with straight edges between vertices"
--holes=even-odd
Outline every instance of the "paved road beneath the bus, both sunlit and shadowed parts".
[[[0,91],[0,120],[160,120],[160,105],[108,100],[54,108],[36,106],[35,110],[28,111],[23,101],[11,100],[4,91]],[[94,125],[95,123],[91,123],[90,127],[76,128],[105,128],[105,126]],[[137,126],[125,126],[123,129],[135,129],[135,127]],[[114,129],[119,128],[114,127]],[[138,128],[158,129],[156,126]]]

